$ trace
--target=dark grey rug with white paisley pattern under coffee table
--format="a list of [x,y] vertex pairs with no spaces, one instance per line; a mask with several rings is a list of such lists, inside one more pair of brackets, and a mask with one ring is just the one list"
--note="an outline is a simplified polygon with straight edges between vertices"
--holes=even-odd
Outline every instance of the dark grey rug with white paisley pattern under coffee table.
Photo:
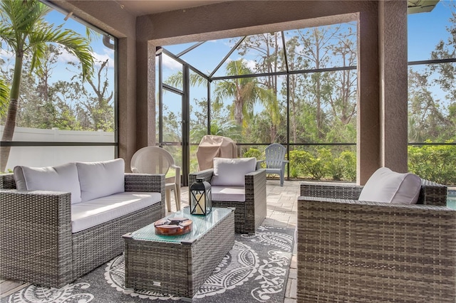
[[[284,302],[294,230],[260,226],[255,235],[236,235],[234,247],[193,297],[195,303]],[[124,288],[123,255],[61,289],[21,289],[1,302],[183,302],[157,292]]]

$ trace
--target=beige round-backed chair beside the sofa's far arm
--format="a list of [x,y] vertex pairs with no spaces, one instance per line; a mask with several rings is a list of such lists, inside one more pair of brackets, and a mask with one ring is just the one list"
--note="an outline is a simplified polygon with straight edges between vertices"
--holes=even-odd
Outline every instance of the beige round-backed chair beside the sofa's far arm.
[[[161,147],[142,147],[133,154],[131,171],[139,174],[165,174],[166,207],[171,211],[171,190],[174,190],[176,209],[180,211],[180,166],[176,166],[172,155]],[[174,169],[175,174],[168,174]]]

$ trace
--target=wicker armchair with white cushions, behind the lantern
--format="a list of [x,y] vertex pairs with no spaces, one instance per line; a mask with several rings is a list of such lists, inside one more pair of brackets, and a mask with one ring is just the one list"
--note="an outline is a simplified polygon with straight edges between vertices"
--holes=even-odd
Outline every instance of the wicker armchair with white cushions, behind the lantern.
[[[227,161],[235,162],[244,159],[227,159]],[[241,166],[242,169],[246,167],[244,164]],[[240,172],[242,169],[239,166],[233,167],[229,176],[224,176],[224,179],[232,181],[239,179],[239,175],[241,175],[242,186],[232,186],[232,184],[222,186],[220,181],[218,185],[214,186],[214,177],[217,176],[214,175],[214,170],[217,171],[217,158],[214,158],[214,168],[189,174],[188,177],[190,185],[199,178],[212,185],[212,207],[236,208],[234,211],[234,230],[236,233],[255,233],[255,230],[266,218],[266,170],[257,169],[256,159],[254,159],[252,167],[253,171],[247,174],[242,174]],[[235,176],[236,173],[238,176]],[[223,184],[223,181],[221,183]]]

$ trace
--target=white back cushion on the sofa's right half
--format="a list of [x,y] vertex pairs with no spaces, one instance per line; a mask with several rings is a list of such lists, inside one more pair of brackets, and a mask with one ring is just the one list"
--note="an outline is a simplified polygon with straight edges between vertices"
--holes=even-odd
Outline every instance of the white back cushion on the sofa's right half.
[[100,162],[76,162],[76,167],[82,201],[125,191],[125,161],[122,158]]

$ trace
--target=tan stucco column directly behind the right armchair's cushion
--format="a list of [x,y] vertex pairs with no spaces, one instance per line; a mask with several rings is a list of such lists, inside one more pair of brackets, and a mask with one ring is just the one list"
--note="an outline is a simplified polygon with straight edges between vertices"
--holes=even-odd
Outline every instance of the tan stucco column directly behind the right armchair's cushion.
[[379,1],[380,161],[406,172],[408,145],[407,1]]

